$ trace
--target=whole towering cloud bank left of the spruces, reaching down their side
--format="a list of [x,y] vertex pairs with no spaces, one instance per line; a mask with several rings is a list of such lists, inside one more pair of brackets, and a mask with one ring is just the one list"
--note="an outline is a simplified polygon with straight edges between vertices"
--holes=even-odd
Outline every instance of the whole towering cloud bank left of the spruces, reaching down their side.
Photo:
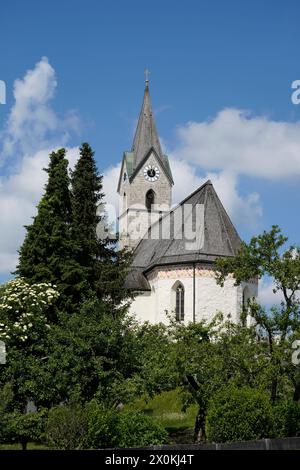
[[[46,58],[38,62],[14,84],[15,103],[1,133],[0,161],[7,161],[5,176],[0,177],[0,273],[15,269],[17,249],[23,237],[23,225],[30,224],[46,182],[49,153],[65,146],[69,132],[78,121],[60,118],[50,106],[57,80]],[[67,158],[71,166],[78,149],[71,148]]]

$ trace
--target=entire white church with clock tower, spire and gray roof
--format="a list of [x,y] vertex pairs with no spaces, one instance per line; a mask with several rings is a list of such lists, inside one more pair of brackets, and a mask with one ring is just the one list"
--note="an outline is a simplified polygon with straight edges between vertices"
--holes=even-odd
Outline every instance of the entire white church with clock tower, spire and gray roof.
[[214,261],[235,256],[241,239],[211,181],[172,206],[172,169],[162,151],[146,79],[142,108],[118,182],[120,248],[133,249],[126,287],[139,321],[211,320],[218,312],[239,322],[257,296],[257,280],[217,285]]

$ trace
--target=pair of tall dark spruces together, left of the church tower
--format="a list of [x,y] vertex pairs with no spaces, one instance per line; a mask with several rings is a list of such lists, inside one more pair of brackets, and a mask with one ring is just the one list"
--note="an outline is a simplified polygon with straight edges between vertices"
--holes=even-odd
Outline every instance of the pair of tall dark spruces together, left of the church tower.
[[[57,285],[59,307],[68,312],[91,293],[118,305],[129,295],[123,284],[130,257],[117,252],[105,235],[102,176],[94,152],[82,144],[71,180],[65,154],[60,149],[50,155],[45,193],[33,223],[26,227],[16,272],[30,283]],[[99,222],[102,238],[97,236]]]

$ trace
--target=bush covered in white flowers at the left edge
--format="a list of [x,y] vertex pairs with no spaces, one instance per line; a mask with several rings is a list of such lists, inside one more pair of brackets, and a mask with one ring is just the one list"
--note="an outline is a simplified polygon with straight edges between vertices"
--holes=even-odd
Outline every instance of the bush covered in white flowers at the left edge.
[[37,340],[41,330],[50,328],[45,312],[58,296],[55,285],[28,284],[23,278],[0,286],[0,340]]

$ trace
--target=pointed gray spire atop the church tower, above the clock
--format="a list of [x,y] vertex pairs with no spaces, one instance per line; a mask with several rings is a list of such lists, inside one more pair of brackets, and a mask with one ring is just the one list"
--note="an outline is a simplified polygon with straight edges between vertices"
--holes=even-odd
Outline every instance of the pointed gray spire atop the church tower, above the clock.
[[149,71],[145,70],[145,91],[142,109],[140,112],[138,125],[132,144],[132,152],[135,157],[135,166],[137,166],[145,157],[147,152],[153,147],[160,158],[162,158],[162,150],[154,122],[150,93],[149,93]]

